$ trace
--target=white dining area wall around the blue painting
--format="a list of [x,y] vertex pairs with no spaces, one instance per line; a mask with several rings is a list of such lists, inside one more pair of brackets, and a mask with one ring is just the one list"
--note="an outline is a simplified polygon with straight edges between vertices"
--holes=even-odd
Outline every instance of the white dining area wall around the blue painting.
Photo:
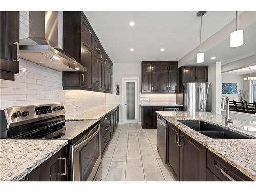
[[[237,83],[237,92],[239,89],[244,89],[244,77],[243,75],[233,75],[228,73],[222,73],[222,83]],[[227,96],[230,101],[235,100],[239,102],[238,94],[222,94]]]

